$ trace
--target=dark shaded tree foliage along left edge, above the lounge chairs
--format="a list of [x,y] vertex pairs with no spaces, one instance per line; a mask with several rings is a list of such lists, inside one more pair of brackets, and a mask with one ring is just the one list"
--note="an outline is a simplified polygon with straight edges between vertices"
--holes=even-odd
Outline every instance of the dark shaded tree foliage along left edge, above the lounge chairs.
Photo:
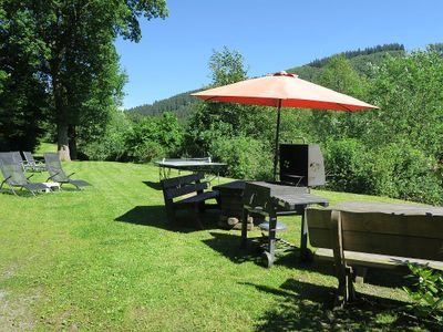
[[31,14],[14,7],[0,7],[0,151],[33,151],[48,120],[47,76],[39,66],[45,49]]

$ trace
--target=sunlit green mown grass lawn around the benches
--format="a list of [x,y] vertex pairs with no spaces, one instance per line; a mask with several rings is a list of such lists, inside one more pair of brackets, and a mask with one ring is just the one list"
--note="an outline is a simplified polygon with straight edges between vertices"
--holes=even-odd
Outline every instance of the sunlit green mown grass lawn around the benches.
[[[289,253],[265,269],[238,249],[239,231],[217,229],[210,212],[206,230],[169,228],[156,167],[64,166],[93,187],[0,195],[1,331],[426,329],[400,310],[401,276],[371,270],[357,286],[359,302],[336,312],[331,264],[301,264]],[[315,193],[331,204],[392,201]],[[284,221],[285,238],[298,243],[300,217]]]

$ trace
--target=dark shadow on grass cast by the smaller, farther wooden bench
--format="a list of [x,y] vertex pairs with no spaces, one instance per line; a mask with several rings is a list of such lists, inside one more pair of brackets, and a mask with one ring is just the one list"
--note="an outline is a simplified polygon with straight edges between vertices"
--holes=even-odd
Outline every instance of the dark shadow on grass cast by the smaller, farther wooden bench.
[[[206,211],[202,214],[203,225],[206,229],[213,229],[215,226],[215,214]],[[156,227],[171,231],[193,232],[200,230],[196,227],[193,216],[186,210],[177,212],[177,225],[169,225],[166,218],[165,207],[158,206],[136,206],[124,215],[115,218],[115,221],[128,222],[134,225]],[[218,218],[218,214],[217,214]]]

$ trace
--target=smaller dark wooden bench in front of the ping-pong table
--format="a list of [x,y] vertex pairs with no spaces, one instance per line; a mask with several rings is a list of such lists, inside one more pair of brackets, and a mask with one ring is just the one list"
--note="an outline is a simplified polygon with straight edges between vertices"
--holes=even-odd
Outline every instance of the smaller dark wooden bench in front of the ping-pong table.
[[218,207],[218,205],[206,204],[208,199],[218,199],[218,191],[205,191],[208,185],[202,181],[204,177],[203,173],[196,173],[161,181],[166,215],[171,224],[175,224],[176,210],[190,209],[194,212],[195,222],[204,229],[199,212],[207,208]]

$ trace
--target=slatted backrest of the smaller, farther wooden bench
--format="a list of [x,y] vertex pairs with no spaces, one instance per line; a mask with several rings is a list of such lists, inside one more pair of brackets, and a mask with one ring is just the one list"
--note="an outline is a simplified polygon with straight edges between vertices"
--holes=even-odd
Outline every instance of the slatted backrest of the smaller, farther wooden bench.
[[202,183],[204,178],[205,175],[203,173],[195,173],[163,179],[161,183],[165,201],[172,201],[174,198],[190,193],[203,193],[207,188],[207,183]]

